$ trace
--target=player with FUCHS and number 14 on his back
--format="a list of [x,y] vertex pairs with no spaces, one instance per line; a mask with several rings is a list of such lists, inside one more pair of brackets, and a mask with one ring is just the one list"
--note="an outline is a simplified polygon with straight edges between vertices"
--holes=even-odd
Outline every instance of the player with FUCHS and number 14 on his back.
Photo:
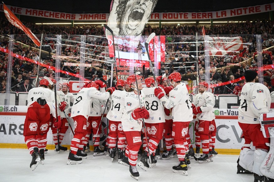
[[116,88],[111,87],[106,91],[111,94],[111,106],[108,114],[109,119],[109,135],[108,147],[110,148],[110,158],[113,160],[116,155],[116,142],[118,138],[118,160],[119,162],[124,157],[124,149],[126,147],[126,135],[123,130],[121,118],[125,109],[126,91],[124,90],[125,82],[118,79]]

